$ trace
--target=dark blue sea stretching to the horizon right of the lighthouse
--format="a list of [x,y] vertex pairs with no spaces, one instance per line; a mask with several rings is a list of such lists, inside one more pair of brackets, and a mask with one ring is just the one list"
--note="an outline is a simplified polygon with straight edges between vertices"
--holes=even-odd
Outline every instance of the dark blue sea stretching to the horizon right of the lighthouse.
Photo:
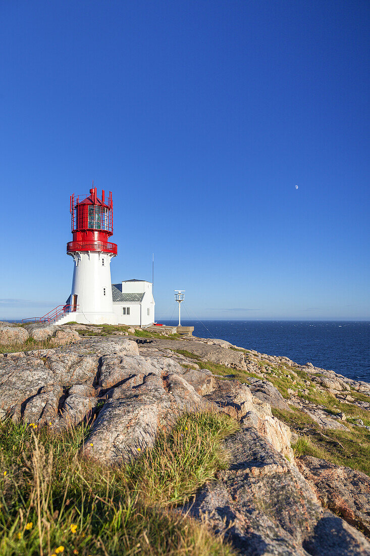
[[[176,321],[161,321],[176,325]],[[214,337],[269,355],[285,355],[301,365],[332,369],[370,382],[370,322],[182,321],[194,336]]]

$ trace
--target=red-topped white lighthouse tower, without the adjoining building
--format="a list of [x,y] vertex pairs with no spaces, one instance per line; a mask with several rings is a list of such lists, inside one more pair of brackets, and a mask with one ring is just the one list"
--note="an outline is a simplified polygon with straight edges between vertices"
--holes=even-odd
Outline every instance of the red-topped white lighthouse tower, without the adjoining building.
[[[117,255],[117,245],[108,242],[113,234],[112,193],[107,200],[102,191],[98,198],[96,187],[85,198],[71,196],[73,240],[67,244],[67,254],[73,257],[73,279],[69,311],[62,321],[75,320],[84,324],[117,324],[113,311],[111,259]],[[58,324],[62,324],[58,320]]]

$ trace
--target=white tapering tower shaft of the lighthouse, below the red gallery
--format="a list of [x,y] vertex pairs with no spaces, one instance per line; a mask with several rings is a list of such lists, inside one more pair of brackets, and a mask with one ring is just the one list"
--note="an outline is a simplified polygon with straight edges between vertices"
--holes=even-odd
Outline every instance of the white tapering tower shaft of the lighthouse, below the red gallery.
[[113,312],[111,285],[112,255],[97,251],[70,255],[74,263],[71,304],[73,295],[77,294],[78,309],[69,320],[93,324],[116,324],[117,316]]

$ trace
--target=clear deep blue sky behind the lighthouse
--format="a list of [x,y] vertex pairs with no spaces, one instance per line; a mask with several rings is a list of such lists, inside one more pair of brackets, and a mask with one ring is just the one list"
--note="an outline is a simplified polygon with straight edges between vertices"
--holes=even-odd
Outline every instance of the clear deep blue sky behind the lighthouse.
[[[368,2],[0,4],[0,319],[70,292],[69,195],[112,281],[203,319],[370,319]],[[298,189],[296,189],[298,185]],[[186,314],[184,314],[185,316]]]

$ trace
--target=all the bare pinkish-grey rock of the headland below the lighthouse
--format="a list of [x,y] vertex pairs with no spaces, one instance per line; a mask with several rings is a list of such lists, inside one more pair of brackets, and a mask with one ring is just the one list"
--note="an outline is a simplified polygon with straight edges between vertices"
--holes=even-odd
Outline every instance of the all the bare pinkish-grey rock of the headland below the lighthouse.
[[[9,415],[56,432],[89,422],[82,454],[117,466],[153,446],[158,433],[171,429],[184,411],[223,411],[241,425],[224,441],[229,468],[202,486],[184,512],[207,514],[213,528],[248,556],[370,554],[366,538],[349,525],[368,530],[370,479],[316,458],[298,459],[301,473],[291,430],[271,410],[296,406],[323,428],[345,428],[343,416],[329,415],[296,395],[295,388],[303,375],[319,391],[347,396],[354,381],[309,365],[302,373],[287,358],[248,354],[224,341],[164,337],[138,346],[114,336],[73,343],[73,326],[46,328],[29,330],[54,340],[52,349],[0,356],[0,418]],[[199,368],[215,368],[204,361],[234,369],[231,373],[246,383],[228,372],[222,377]],[[278,366],[293,386],[289,400],[268,380]],[[367,391],[365,383],[357,386]]]

